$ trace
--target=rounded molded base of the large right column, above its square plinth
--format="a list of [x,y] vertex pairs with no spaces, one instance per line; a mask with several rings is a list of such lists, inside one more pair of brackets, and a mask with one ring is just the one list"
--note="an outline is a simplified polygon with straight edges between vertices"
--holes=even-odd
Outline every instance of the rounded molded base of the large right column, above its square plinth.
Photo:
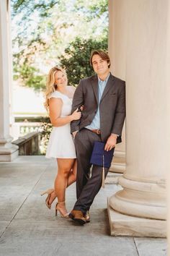
[[109,198],[113,210],[137,218],[166,220],[166,188],[162,182],[138,182],[120,176],[122,190]]

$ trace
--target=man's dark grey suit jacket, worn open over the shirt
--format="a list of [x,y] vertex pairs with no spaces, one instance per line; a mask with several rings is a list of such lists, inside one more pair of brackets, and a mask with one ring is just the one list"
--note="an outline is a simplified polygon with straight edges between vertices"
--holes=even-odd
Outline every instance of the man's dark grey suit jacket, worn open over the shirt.
[[[98,77],[87,77],[80,81],[73,96],[72,112],[84,105],[80,120],[71,122],[71,133],[91,124],[97,113],[99,103]],[[125,119],[125,81],[109,75],[99,103],[100,130],[102,141],[106,142],[109,135],[120,135],[117,143],[121,142],[122,127]]]

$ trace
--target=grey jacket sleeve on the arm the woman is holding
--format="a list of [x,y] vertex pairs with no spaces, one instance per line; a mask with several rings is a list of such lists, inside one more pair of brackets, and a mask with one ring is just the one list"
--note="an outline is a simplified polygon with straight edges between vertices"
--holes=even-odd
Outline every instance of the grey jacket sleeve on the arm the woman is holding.
[[[82,88],[82,82],[80,81],[73,95],[73,104],[72,104],[71,113],[73,113],[73,111],[75,111],[76,108],[80,108],[82,105],[84,105],[84,93]],[[71,133],[75,131],[79,131],[80,120],[81,119],[71,121]]]

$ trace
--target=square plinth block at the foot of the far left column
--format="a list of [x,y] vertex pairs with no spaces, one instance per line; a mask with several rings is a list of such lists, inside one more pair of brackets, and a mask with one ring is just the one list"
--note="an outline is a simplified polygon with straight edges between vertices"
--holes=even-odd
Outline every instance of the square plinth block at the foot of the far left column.
[[11,148],[0,149],[0,162],[11,162],[18,157],[18,147],[12,145]]

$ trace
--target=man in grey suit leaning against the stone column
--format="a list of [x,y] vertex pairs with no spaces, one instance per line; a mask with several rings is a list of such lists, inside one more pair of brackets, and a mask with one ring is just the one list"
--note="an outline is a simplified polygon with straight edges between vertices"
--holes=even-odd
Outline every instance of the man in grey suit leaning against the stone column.
[[[72,121],[71,133],[77,153],[77,201],[69,217],[81,224],[89,222],[89,208],[102,186],[102,168],[90,158],[94,142],[105,142],[104,150],[121,142],[125,119],[125,81],[109,72],[110,60],[104,51],[93,51],[90,58],[96,75],[80,81],[73,96],[72,111],[84,105],[81,120]],[[105,168],[105,177],[109,169]]]

